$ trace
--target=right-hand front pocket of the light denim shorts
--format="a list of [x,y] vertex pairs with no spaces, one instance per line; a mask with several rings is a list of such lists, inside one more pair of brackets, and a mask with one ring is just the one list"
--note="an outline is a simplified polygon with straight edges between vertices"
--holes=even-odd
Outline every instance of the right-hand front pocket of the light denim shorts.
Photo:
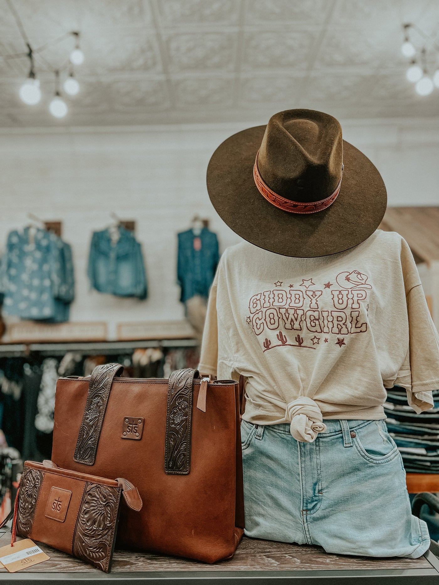
[[389,463],[399,455],[383,421],[371,421],[351,432],[354,446],[368,463]]

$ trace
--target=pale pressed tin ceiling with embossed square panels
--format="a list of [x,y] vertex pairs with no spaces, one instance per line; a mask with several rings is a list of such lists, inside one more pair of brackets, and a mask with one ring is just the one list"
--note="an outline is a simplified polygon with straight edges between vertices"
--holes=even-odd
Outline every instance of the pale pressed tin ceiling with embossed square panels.
[[[0,126],[265,121],[286,108],[339,118],[439,115],[439,91],[406,81],[403,22],[428,34],[437,0],[12,0],[33,46],[79,30],[80,93],[48,111],[54,76],[36,60],[43,98],[18,97],[26,59],[0,61]],[[44,51],[53,69],[72,39]],[[0,55],[25,50],[0,0]]]

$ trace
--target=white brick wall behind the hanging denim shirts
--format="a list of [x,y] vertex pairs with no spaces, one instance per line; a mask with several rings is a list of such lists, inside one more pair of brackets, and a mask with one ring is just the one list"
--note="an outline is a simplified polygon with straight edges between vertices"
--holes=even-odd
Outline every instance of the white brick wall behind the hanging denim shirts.
[[[390,205],[439,205],[438,121],[347,121],[342,126],[345,138],[379,168]],[[176,233],[199,214],[211,219],[221,250],[239,241],[210,204],[205,171],[215,147],[241,128],[0,130],[0,249],[9,230],[29,222],[28,212],[61,219],[76,269],[72,320],[107,321],[113,336],[119,321],[182,318]],[[111,212],[137,222],[149,281],[146,301],[90,291],[91,232],[111,223]]]

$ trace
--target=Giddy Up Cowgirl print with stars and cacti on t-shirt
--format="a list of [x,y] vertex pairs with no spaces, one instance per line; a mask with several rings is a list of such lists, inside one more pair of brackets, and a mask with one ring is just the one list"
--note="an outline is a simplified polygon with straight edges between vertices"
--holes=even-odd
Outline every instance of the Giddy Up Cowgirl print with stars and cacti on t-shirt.
[[[348,288],[340,288],[339,279]],[[297,288],[294,284],[283,287],[283,281],[277,280],[275,288],[252,295],[245,322],[255,335],[265,336],[264,352],[275,347],[320,349],[324,347],[320,333],[328,336],[324,343],[341,349],[350,335],[368,331],[369,277],[353,270],[342,271],[332,280],[337,288],[332,288],[331,278],[323,285],[302,279]]]

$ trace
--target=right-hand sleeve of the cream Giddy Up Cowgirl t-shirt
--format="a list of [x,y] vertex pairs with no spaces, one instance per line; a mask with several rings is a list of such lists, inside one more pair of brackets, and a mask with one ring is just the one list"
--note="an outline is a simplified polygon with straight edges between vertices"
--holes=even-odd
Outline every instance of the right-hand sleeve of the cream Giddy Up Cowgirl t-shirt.
[[407,294],[409,348],[394,384],[407,391],[416,412],[433,407],[432,390],[439,390],[439,336],[421,285]]

